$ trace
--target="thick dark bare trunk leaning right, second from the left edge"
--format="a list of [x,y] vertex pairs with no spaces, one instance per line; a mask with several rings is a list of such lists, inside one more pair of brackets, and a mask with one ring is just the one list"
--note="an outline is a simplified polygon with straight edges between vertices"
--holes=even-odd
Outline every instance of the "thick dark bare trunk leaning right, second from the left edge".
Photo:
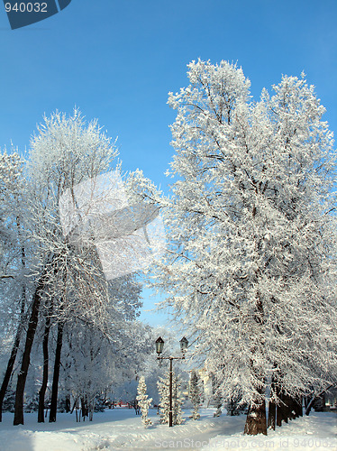
[[32,342],[34,340],[36,327],[38,325],[39,310],[41,305],[41,291],[44,286],[44,277],[42,276],[32,298],[32,311],[29,318],[26,342],[23,350],[23,361],[20,372],[17,377],[15,392],[15,410],[14,410],[14,426],[23,424],[23,395],[26,384],[28,368],[31,363]]

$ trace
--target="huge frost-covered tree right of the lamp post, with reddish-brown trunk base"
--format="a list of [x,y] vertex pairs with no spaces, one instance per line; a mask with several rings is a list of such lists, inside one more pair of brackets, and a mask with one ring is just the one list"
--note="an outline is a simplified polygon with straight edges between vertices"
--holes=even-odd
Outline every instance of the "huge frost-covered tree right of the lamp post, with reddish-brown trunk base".
[[[223,400],[250,405],[245,432],[267,434],[271,380],[279,404],[336,379],[332,133],[304,77],[259,102],[226,61],[193,61],[188,78],[168,98],[173,196],[161,200],[168,253],[155,282]],[[160,202],[150,184],[143,193]]]

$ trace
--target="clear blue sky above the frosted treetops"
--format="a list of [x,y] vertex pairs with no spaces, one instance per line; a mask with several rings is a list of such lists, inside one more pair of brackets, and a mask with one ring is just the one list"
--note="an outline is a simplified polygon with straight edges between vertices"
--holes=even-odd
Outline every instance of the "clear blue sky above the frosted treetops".
[[237,61],[256,99],[304,70],[336,131],[336,18],[335,0],[72,0],[12,31],[0,5],[0,146],[23,151],[44,113],[78,106],[118,136],[123,170],[166,189],[168,91],[187,85],[197,58]]

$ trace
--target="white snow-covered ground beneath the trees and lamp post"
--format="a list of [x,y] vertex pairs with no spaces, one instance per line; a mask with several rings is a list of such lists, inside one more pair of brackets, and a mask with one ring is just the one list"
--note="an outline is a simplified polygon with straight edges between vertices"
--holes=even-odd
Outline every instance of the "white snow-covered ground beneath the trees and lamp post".
[[213,418],[212,410],[201,410],[201,419],[168,428],[150,411],[152,426],[145,429],[134,410],[106,410],[93,422],[76,423],[74,415],[59,414],[57,423],[38,424],[36,414],[25,414],[25,425],[14,427],[13,414],[0,423],[1,451],[94,451],[123,449],[245,449],[337,451],[337,414],[312,413],[269,431],[268,437],[244,436],[245,416]]

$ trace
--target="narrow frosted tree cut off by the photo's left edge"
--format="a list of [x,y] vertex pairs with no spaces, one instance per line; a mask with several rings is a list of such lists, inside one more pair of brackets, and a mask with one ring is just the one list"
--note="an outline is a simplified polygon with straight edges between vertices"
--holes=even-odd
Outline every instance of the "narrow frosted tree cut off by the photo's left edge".
[[5,392],[19,351],[29,295],[25,277],[29,244],[23,162],[17,152],[0,152],[0,347],[7,356],[0,388],[0,421]]

